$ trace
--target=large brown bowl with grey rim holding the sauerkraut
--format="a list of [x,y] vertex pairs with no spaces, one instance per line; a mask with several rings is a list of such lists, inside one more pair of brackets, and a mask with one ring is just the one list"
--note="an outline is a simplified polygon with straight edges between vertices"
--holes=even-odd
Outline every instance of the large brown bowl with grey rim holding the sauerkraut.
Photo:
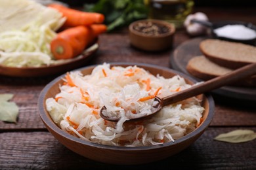
[[[127,67],[129,65],[137,65],[142,67],[153,75],[160,74],[165,78],[169,78],[174,75],[181,75],[185,78],[186,82],[189,84],[194,84],[194,80],[187,75],[179,73],[178,71],[174,71],[172,69],[168,69],[165,67],[158,67],[155,65],[148,64],[139,64],[139,63],[111,63],[111,65],[119,65],[123,67]],[[91,74],[93,70],[93,66],[83,67],[78,69],[84,75]],[[41,94],[39,95],[38,101],[38,109],[39,115],[43,120],[43,123],[47,127],[47,129],[53,134],[53,136],[64,146],[69,148],[70,150],[80,154],[81,156],[85,156],[91,160],[100,161],[104,163],[112,163],[112,164],[124,164],[124,165],[132,165],[132,164],[140,164],[140,163],[149,163],[152,161],[158,161],[163,158],[167,158],[169,156],[173,156],[184,150],[190,146],[190,144],[194,143],[205,131],[205,129],[211,123],[214,114],[214,101],[209,93],[205,93],[203,95],[198,95],[202,99],[202,106],[205,108],[203,112],[203,121],[200,126],[198,126],[194,131],[188,133],[184,137],[180,139],[176,139],[175,142],[169,142],[164,144],[158,144],[154,146],[138,146],[138,147],[126,147],[126,146],[108,146],[104,144],[90,143],[74,137],[65,131],[62,131],[60,127],[54,124],[49,112],[46,110],[45,101],[49,97],[54,97],[56,93],[59,93],[59,84],[63,83],[62,78],[64,75],[59,76],[54,79],[52,82],[47,84],[47,86],[43,89]],[[198,153],[200,154],[200,153]]]

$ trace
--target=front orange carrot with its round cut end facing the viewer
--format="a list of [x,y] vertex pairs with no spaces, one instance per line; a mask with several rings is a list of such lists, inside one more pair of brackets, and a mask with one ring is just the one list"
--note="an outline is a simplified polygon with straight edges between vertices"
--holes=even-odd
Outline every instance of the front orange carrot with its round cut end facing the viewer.
[[51,52],[55,59],[70,59],[81,54],[100,33],[106,31],[106,25],[95,24],[65,29],[51,41]]

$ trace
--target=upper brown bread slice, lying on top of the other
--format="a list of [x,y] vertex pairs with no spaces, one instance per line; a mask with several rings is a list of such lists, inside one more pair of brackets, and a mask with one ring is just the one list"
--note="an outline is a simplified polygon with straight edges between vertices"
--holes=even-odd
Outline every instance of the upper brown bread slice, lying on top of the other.
[[214,63],[230,69],[256,63],[256,47],[240,42],[205,39],[200,42],[200,50]]

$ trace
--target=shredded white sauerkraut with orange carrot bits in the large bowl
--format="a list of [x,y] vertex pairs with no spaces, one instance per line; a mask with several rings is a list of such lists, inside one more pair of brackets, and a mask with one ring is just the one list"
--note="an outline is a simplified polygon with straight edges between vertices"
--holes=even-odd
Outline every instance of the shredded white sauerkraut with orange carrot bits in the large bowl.
[[106,106],[115,110],[115,114],[116,110],[128,109],[129,114],[136,116],[154,105],[154,98],[145,97],[164,97],[190,86],[179,75],[164,78],[136,65],[110,67],[104,63],[96,66],[91,75],[79,71],[67,73],[60,92],[47,99],[46,106],[61,129],[85,141],[112,146],[150,146],[174,142],[196,129],[204,110],[200,101],[192,97],[163,107],[154,116],[137,122],[126,122],[127,116],[121,116],[118,122],[104,120],[99,115],[100,109]]

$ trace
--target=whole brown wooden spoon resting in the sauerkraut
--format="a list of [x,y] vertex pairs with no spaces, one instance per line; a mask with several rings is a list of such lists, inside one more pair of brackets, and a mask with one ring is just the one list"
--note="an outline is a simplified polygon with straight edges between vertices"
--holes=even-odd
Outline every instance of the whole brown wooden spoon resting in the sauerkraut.
[[[139,120],[141,118],[146,118],[147,116],[152,116],[159,110],[161,110],[163,107],[170,105],[172,103],[176,103],[178,101],[182,101],[184,99],[188,99],[190,97],[209,92],[211,90],[215,90],[217,88],[220,88],[222,86],[228,85],[236,80],[240,80],[241,78],[246,78],[247,76],[255,75],[256,74],[256,63],[251,63],[249,65],[245,65],[244,67],[241,67],[240,69],[236,69],[230,73],[227,73],[223,76],[217,76],[216,78],[213,78],[211,80],[207,80],[206,82],[202,82],[199,84],[196,84],[186,90],[182,90],[180,92],[174,93],[173,95],[169,95],[166,97],[163,97],[160,99],[160,97],[155,97],[155,101],[158,101],[158,104],[154,107],[155,110],[152,114],[148,115],[142,115],[139,118],[131,118],[130,120]],[[100,116],[104,118],[105,120],[110,121],[118,121],[119,118],[116,117],[108,117],[105,116],[102,112],[103,110],[106,110],[106,107],[102,107],[100,110]],[[139,114],[139,113],[138,113]],[[127,120],[127,121],[130,121]]]

